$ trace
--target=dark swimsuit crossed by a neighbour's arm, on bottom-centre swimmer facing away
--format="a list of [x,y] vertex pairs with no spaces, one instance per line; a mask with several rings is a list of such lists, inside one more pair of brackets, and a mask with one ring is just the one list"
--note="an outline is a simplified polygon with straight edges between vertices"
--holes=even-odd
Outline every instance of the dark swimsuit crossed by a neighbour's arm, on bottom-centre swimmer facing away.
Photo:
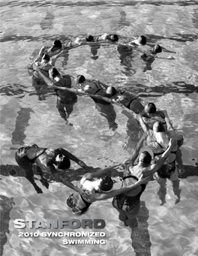
[[[138,181],[137,177],[133,175],[125,176],[123,180],[127,178],[133,178]],[[141,197],[142,192],[145,190],[145,186],[145,184],[141,184],[141,191],[134,197],[127,196],[124,193],[118,194],[116,197],[113,197],[113,207],[115,207],[116,209],[122,209],[126,212],[132,211],[134,207],[139,203],[139,198]]]

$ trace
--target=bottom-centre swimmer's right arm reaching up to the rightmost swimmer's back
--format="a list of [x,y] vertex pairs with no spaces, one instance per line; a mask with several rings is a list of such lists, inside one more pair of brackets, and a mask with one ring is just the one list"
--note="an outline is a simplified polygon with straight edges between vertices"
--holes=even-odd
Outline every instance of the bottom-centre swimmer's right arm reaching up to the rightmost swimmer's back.
[[161,158],[159,160],[157,160],[157,162],[155,164],[152,164],[150,167],[145,167],[142,168],[142,174],[144,176],[148,176],[150,174],[155,173],[157,170],[160,169],[160,167],[162,167],[163,162],[166,160],[166,158],[169,156],[169,154],[172,151],[172,148],[176,145],[176,140],[169,140],[169,147],[166,149],[165,152],[163,152]]

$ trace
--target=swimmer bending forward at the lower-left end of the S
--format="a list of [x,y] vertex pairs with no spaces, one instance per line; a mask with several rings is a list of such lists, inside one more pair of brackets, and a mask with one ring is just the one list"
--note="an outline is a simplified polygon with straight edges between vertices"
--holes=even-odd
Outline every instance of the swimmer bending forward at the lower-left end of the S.
[[[60,170],[68,169],[71,166],[71,160],[75,161],[80,167],[90,171],[90,168],[76,156],[72,155],[66,149],[45,149],[40,148],[36,144],[25,144],[23,147],[17,150],[15,154],[15,160],[17,164],[25,171],[26,179],[31,182],[38,194],[43,191],[34,182],[33,164],[40,167],[40,182],[49,187],[47,180],[43,176],[52,176],[56,181],[62,182],[74,191],[81,192],[80,188],[73,185],[67,179],[64,178]],[[59,171],[58,171],[59,170]]]

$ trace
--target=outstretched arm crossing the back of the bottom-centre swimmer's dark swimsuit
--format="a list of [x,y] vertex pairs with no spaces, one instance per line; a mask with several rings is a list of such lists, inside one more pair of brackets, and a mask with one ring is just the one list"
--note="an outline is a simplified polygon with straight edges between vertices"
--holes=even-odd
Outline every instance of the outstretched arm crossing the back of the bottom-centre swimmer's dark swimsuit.
[[147,184],[149,180],[150,180],[149,177],[142,178],[142,176],[141,176],[139,178],[139,181],[136,182],[133,185],[129,185],[127,187],[116,189],[114,191],[110,191],[110,192],[107,192],[107,193],[102,192],[101,194],[98,194],[98,193],[91,194],[91,202],[95,202],[95,201],[98,201],[98,200],[106,200],[106,199],[109,199],[111,197],[116,197],[118,194],[122,194],[122,193],[125,193],[127,191],[130,191],[131,189],[136,188],[137,186],[139,186],[141,184]]

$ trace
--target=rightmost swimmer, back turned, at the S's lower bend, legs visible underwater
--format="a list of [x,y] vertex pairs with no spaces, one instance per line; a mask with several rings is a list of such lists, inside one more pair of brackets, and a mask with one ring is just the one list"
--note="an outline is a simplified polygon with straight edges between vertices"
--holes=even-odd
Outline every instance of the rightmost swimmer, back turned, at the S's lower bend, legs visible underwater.
[[[172,123],[169,120],[169,116],[166,110],[163,110],[162,113],[165,117],[167,131],[165,131],[162,122],[155,122],[153,125],[154,136],[151,136],[149,134],[148,129],[145,126],[145,123],[142,121],[141,116],[139,116],[139,124],[142,126],[143,131],[147,131],[148,133],[147,143],[154,154],[155,161],[159,159],[160,155],[162,155],[163,152],[166,150],[170,138],[173,138],[177,142],[177,137],[174,128],[172,128]],[[160,185],[160,188],[158,189],[157,192],[161,201],[160,205],[166,203],[166,179],[169,179],[172,182],[173,192],[177,197],[175,203],[180,202],[181,189],[179,188],[178,167],[176,166],[175,161],[177,161],[178,166],[183,172],[184,167],[182,164],[181,155],[178,154],[178,142],[172,148],[172,151],[169,154],[168,158],[166,158],[163,167],[161,167],[157,171],[157,173],[154,174],[154,178]]]

